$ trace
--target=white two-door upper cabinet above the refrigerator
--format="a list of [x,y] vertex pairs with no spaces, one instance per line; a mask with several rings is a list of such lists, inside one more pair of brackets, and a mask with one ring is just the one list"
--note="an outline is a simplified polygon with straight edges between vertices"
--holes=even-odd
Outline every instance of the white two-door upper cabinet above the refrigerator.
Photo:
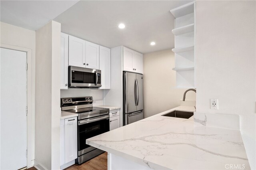
[[123,47],[123,70],[143,73],[143,54]]

